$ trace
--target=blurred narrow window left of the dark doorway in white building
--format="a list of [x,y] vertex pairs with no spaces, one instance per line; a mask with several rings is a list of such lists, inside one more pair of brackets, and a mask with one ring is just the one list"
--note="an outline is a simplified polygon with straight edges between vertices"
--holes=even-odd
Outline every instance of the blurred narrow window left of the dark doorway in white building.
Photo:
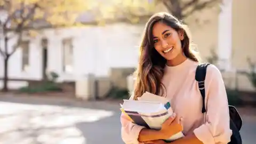
[[22,41],[20,47],[22,51],[21,69],[27,71],[29,68],[29,41]]

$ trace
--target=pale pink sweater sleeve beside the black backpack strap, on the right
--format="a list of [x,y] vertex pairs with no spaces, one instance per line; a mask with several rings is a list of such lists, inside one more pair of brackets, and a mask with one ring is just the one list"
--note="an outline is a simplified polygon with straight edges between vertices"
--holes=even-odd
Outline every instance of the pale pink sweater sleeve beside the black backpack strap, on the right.
[[231,133],[225,85],[217,67],[210,65],[205,77],[206,122],[194,130],[204,144],[227,144]]

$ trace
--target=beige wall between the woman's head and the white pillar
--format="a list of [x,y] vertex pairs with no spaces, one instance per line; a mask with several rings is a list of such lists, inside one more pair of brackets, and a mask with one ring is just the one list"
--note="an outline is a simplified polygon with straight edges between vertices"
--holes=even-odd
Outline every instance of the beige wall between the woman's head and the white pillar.
[[207,61],[212,56],[211,51],[218,54],[218,14],[215,9],[207,9],[187,19],[191,41],[199,51],[202,61]]

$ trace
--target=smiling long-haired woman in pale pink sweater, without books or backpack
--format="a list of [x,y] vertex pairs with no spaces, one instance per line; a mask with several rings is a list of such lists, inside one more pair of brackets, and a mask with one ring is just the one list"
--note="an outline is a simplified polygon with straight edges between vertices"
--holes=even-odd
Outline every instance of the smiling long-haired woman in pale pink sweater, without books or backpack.
[[207,67],[204,115],[195,80],[198,63],[185,25],[168,13],[157,13],[149,19],[131,99],[137,100],[146,91],[166,97],[175,114],[163,123],[161,130],[136,125],[122,114],[122,139],[126,144],[165,143],[162,139],[180,130],[185,137],[171,143],[227,144],[230,141],[228,102],[221,73],[214,65]]

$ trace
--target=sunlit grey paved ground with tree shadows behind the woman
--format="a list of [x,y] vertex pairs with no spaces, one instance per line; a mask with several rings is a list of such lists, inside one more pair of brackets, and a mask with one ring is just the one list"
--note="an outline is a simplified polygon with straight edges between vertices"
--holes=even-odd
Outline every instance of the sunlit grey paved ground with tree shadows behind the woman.
[[[0,95],[0,109],[1,144],[123,143],[116,102]],[[252,144],[256,114],[243,118],[244,144]]]

